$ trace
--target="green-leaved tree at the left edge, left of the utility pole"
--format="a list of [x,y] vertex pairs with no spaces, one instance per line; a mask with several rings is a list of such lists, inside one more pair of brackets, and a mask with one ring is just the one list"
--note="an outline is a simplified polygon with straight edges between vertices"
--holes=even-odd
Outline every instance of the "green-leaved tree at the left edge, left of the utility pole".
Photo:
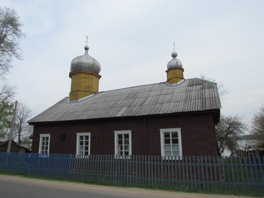
[[13,103],[4,101],[0,103],[0,138],[6,138],[11,128],[13,118]]

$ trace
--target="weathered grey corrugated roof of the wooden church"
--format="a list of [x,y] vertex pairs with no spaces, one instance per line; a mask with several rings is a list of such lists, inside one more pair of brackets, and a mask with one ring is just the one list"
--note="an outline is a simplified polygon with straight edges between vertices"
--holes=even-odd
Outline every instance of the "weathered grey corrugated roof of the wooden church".
[[220,109],[216,83],[194,78],[99,92],[69,102],[66,97],[29,123],[159,115]]

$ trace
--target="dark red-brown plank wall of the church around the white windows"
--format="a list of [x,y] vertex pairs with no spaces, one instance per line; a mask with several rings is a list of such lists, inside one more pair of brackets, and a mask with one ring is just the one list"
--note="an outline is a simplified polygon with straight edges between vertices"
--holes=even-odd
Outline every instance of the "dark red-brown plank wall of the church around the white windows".
[[49,153],[75,154],[76,133],[90,132],[90,154],[115,154],[114,131],[131,130],[132,155],[161,155],[160,128],[181,128],[183,155],[216,155],[212,113],[35,124],[32,152],[39,152],[39,134],[50,133]]

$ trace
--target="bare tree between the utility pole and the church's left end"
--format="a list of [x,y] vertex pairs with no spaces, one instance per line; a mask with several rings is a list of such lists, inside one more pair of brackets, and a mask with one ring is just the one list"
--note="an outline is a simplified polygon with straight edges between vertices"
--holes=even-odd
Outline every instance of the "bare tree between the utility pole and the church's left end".
[[27,123],[32,116],[33,112],[30,107],[27,104],[19,102],[16,113],[15,132],[13,135],[13,138],[17,138],[18,145],[33,133],[33,128]]

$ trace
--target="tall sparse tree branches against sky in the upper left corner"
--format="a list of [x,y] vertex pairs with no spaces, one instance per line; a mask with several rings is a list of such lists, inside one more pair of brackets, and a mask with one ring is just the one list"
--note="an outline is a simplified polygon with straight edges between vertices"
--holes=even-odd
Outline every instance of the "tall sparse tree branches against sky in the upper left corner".
[[26,37],[23,24],[13,8],[0,7],[0,77],[12,67],[12,57],[22,60],[20,40]]

